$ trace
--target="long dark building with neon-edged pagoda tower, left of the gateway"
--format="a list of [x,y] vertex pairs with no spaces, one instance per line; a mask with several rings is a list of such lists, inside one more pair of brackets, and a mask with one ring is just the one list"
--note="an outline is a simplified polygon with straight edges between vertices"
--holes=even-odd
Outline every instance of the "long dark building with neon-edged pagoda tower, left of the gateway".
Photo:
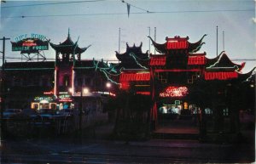
[[49,45],[55,49],[55,61],[4,63],[5,108],[61,110],[74,108],[74,98],[81,96],[83,88],[87,88],[90,93],[82,96],[98,98],[99,95],[109,93],[106,88],[108,77],[104,76],[109,68],[107,63],[103,60],[81,59],[90,46],[79,48],[78,42],[72,41],[69,32],[64,42],[49,42]]

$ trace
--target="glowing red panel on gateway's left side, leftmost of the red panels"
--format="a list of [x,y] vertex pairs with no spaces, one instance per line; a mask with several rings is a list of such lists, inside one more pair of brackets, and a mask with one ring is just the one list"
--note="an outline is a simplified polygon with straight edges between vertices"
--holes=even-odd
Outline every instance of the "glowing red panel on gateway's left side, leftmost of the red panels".
[[129,81],[149,81],[150,73],[122,73],[119,77],[120,82]]

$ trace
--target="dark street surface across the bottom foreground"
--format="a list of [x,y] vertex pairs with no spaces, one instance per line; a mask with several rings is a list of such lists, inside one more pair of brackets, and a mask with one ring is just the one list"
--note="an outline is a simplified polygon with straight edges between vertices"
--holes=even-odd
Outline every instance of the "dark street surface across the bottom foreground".
[[27,163],[253,163],[254,131],[238,143],[201,143],[196,139],[108,139],[112,124],[87,129],[83,137],[4,139],[1,164]]

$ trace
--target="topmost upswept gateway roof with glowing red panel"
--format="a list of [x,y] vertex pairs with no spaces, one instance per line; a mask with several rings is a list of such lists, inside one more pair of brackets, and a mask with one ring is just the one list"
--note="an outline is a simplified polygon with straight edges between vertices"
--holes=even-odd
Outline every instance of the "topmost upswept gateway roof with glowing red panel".
[[[166,37],[166,42],[162,44],[154,42],[154,40],[151,37],[149,36],[148,37],[150,38],[157,52],[159,52],[160,54],[167,54],[173,49],[188,49],[189,53],[196,53],[197,51],[200,50],[201,46],[205,43],[205,42],[202,42],[202,40],[206,36],[207,34],[201,37],[201,39],[198,42],[194,42],[194,43],[189,42],[189,37],[179,37],[179,36],[176,36],[173,38]],[[177,47],[174,46],[174,48],[172,48],[172,45],[169,46],[169,42],[180,42],[181,45],[177,45]]]

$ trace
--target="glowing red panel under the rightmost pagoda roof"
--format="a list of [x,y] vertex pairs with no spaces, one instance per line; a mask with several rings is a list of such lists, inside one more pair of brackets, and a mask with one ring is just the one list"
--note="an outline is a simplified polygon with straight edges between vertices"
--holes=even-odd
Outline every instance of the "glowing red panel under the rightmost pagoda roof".
[[237,72],[205,72],[206,80],[228,80],[237,77]]

